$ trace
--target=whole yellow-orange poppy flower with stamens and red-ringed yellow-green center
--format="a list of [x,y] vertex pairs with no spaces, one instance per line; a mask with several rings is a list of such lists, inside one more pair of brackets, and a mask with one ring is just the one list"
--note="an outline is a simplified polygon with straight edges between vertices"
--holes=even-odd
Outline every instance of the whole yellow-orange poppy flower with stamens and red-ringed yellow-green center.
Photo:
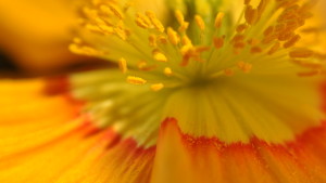
[[0,181],[326,182],[315,3],[92,1],[70,50],[116,67],[2,80]]

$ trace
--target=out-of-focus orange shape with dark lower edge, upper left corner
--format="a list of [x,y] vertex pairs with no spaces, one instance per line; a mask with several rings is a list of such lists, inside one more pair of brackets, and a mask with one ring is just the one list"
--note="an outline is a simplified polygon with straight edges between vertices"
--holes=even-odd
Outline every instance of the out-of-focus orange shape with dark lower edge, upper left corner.
[[83,0],[1,0],[0,69],[5,75],[64,73],[95,61],[67,49]]

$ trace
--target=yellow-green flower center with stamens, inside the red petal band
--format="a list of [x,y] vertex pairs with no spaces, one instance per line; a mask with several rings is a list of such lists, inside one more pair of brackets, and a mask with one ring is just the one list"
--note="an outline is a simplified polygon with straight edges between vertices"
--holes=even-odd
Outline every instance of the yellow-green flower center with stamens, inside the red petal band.
[[[261,0],[251,5],[246,0],[243,6],[222,12],[217,10],[223,4],[214,1],[185,1],[174,8],[170,26],[152,11],[137,12],[129,2],[96,1],[85,8],[80,22],[86,31],[70,49],[117,62],[123,74],[102,81],[111,81],[108,88],[115,95],[110,101],[121,115],[112,115],[108,103],[95,106],[103,107],[106,118],[114,116],[115,127],[134,138],[137,130],[148,131],[140,138],[143,143],[154,142],[165,117],[177,118],[188,133],[225,142],[248,142],[252,136],[283,142],[318,125],[323,115],[317,79],[303,76],[323,73],[323,56],[296,47],[313,3]],[[302,104],[300,113],[296,104]],[[137,107],[141,112],[135,112]],[[289,114],[297,116],[291,119]],[[138,128],[131,132],[135,123]]]

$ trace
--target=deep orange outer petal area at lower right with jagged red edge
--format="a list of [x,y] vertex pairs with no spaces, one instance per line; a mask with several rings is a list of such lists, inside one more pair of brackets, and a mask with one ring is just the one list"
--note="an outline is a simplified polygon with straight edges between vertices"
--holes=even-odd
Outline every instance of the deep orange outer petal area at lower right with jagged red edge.
[[160,131],[151,183],[326,181],[326,123],[286,144],[225,144],[184,134],[174,119]]

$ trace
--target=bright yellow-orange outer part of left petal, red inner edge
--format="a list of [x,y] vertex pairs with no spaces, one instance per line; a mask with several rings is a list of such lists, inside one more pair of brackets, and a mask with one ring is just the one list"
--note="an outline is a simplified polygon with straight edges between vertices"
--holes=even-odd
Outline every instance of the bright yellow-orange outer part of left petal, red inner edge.
[[[60,86],[60,84],[59,84]],[[0,182],[148,182],[154,148],[99,129],[47,81],[0,82]]]

